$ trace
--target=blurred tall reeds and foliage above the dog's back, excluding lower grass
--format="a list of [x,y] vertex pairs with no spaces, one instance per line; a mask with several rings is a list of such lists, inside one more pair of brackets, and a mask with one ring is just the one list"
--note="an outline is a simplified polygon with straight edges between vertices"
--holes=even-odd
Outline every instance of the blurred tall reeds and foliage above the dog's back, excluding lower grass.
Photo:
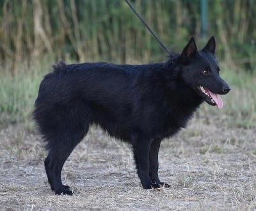
[[[199,47],[200,1],[131,1],[170,50],[180,52],[190,36]],[[0,0],[0,62],[15,66],[44,55],[58,60],[152,62],[166,52],[122,0]],[[218,57],[252,71],[256,57],[256,1],[209,0],[208,36]]]

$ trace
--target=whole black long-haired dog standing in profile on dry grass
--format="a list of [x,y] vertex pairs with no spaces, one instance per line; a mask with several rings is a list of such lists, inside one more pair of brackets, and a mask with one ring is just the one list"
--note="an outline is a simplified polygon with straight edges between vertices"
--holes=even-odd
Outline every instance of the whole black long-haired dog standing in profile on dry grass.
[[93,123],[132,144],[143,188],[170,187],[157,173],[161,140],[185,127],[203,101],[221,108],[218,94],[230,91],[214,51],[212,36],[200,51],[191,38],[182,54],[164,63],[54,64],[40,84],[34,111],[49,151],[51,189],[72,194],[61,182],[61,169]]

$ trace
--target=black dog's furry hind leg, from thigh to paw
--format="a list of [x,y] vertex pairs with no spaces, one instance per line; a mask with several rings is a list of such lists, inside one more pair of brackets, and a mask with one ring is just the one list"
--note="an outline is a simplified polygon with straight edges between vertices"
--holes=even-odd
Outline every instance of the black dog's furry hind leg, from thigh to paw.
[[42,132],[49,152],[44,162],[45,171],[51,189],[56,194],[72,194],[70,187],[61,182],[61,170],[72,150],[88,132],[90,119],[90,111],[84,105],[73,102],[67,108],[59,107],[55,112],[52,110],[44,124],[41,124],[45,126]]

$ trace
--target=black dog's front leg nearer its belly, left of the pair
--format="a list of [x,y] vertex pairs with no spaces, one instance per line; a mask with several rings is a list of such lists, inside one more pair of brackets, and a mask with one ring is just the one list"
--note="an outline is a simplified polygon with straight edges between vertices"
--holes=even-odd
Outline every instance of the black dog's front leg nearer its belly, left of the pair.
[[143,136],[135,135],[132,138],[132,148],[134,152],[137,173],[140,177],[141,184],[144,189],[151,189],[152,181],[149,177],[148,160],[150,140]]

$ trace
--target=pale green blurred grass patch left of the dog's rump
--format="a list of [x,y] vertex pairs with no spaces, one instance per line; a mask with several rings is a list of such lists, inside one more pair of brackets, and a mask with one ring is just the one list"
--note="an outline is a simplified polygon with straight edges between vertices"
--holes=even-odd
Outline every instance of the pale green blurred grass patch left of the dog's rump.
[[5,71],[0,77],[0,126],[30,121],[33,103],[42,80],[35,67],[22,64],[14,76]]

